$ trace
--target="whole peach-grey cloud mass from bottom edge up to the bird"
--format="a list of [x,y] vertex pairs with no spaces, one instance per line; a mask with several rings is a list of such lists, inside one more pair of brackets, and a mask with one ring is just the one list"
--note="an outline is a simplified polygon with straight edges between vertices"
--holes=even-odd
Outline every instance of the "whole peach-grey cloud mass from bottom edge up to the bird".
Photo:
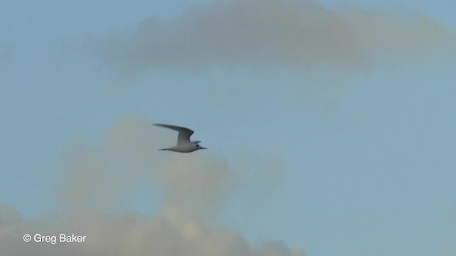
[[[304,256],[282,242],[252,247],[214,218],[238,186],[232,164],[207,154],[157,151],[162,139],[141,115],[124,117],[98,144],[76,136],[63,165],[63,214],[24,220],[0,206],[5,255]],[[247,159],[248,171],[261,161]],[[271,175],[271,174],[269,174]],[[276,171],[276,175],[281,175]],[[266,178],[267,179],[267,178]],[[125,194],[145,182],[163,204],[150,215],[115,214]],[[86,235],[86,242],[24,242],[24,234]],[[32,238],[33,239],[33,238]]]

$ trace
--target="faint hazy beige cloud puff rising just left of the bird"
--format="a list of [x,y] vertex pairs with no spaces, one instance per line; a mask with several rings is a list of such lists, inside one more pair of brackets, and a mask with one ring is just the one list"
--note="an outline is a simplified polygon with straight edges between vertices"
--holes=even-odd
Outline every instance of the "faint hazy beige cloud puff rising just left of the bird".
[[153,154],[152,145],[158,139],[151,131],[151,122],[145,117],[127,116],[98,145],[90,146],[84,134],[76,134],[63,164],[59,193],[63,210],[76,215],[80,209],[105,213],[132,183],[153,181],[150,174],[164,166]]

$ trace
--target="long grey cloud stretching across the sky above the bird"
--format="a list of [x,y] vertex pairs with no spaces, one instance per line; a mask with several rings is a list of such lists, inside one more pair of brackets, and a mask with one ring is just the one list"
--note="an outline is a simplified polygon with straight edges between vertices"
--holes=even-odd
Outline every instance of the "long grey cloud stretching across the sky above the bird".
[[316,1],[217,1],[138,28],[88,40],[90,53],[123,75],[212,66],[358,67],[372,58],[455,53],[455,34],[406,11],[328,9]]

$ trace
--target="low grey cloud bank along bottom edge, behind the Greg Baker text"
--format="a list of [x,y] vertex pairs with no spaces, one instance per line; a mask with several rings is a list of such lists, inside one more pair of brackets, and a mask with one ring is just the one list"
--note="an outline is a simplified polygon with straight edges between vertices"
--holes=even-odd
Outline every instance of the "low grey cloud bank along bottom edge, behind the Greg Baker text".
[[[86,235],[85,242],[24,242],[23,235]],[[176,223],[145,215],[71,218],[22,225],[0,230],[5,255],[188,255],[188,256],[304,256],[303,249],[289,249],[281,242],[252,247],[227,228],[192,221]],[[33,239],[33,238],[32,238]]]

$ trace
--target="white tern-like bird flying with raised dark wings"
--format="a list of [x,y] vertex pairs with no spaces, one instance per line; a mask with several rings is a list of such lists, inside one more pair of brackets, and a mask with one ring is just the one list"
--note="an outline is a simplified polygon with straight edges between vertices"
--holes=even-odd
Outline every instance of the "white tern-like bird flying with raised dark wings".
[[167,149],[160,149],[160,150],[168,150],[168,151],[175,151],[179,153],[190,153],[193,151],[197,151],[198,149],[207,149],[205,147],[199,146],[199,142],[201,141],[190,141],[190,136],[192,136],[193,131],[191,129],[185,127],[178,127],[171,124],[154,124],[158,127],[165,127],[168,129],[173,129],[179,134],[177,135],[177,144],[176,146],[171,146]]

